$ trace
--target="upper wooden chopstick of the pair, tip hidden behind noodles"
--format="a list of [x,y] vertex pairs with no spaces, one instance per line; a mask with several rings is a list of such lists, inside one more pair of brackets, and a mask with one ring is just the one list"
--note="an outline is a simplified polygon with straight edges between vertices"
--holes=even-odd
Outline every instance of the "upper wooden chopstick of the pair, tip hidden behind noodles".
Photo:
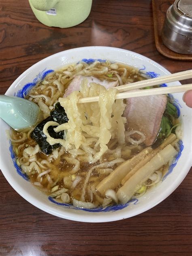
[[178,73],[171,74],[171,75],[166,75],[163,77],[156,77],[156,78],[151,78],[151,79],[147,79],[147,80],[143,80],[143,81],[138,81],[135,83],[119,85],[119,86],[113,87],[113,88],[118,90],[118,92],[125,92],[125,91],[139,89],[139,88],[143,88],[143,87],[147,87],[147,86],[159,85],[162,83],[181,81],[181,80],[189,79],[189,78],[192,78],[192,69],[178,72]]

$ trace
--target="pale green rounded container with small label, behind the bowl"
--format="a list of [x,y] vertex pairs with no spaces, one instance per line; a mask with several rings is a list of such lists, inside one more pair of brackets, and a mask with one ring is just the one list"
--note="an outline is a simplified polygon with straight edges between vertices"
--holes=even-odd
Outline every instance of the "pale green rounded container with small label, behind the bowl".
[[46,26],[69,28],[90,14],[92,0],[29,0],[36,18]]

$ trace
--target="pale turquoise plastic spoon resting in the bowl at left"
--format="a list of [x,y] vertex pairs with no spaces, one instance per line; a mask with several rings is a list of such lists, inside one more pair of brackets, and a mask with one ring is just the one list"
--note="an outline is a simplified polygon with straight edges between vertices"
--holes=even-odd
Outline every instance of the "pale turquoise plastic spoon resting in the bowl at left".
[[0,95],[0,117],[14,130],[35,124],[38,113],[38,105],[30,100]]

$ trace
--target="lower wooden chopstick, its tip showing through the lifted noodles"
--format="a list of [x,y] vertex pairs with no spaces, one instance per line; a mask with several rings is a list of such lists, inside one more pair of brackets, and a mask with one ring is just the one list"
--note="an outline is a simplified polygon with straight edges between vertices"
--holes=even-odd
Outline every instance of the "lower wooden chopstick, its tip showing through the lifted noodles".
[[[147,90],[138,90],[134,92],[121,92],[116,94],[116,99],[126,99],[126,98],[134,98],[134,97],[141,97],[141,96],[158,95],[158,94],[186,92],[188,90],[192,90],[192,84],[170,86],[170,87],[159,87],[159,88],[153,88],[153,89],[147,89]],[[98,100],[99,100],[99,96],[86,97],[86,98],[79,99],[78,103],[96,102]]]

